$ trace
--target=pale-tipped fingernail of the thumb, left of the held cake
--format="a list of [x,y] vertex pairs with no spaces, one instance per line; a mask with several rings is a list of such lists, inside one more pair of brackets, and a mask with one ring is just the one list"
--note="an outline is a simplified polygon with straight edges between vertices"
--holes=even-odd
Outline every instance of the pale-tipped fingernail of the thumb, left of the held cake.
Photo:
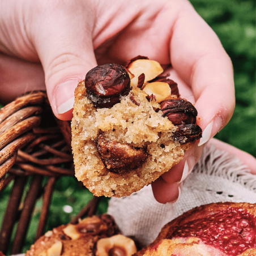
[[75,102],[75,88],[78,80],[68,80],[59,84],[54,94],[58,114],[63,114],[73,108]]

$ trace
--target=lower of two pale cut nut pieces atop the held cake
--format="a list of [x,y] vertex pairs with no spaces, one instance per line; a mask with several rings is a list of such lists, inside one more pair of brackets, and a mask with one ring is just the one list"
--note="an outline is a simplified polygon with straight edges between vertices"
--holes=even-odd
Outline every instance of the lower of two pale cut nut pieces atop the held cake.
[[160,103],[161,101],[170,97],[170,87],[168,83],[148,83],[142,91],[146,92],[148,95],[155,95],[157,103]]

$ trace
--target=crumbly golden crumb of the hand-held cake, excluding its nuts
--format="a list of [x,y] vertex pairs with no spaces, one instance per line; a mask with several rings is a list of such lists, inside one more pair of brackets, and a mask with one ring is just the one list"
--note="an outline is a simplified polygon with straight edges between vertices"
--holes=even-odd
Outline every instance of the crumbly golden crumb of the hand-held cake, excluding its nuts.
[[[161,110],[154,110],[160,109],[160,105],[155,100],[148,101],[146,96],[135,87],[112,108],[96,109],[87,99],[84,81],[79,82],[71,122],[75,176],[93,194],[130,195],[180,162],[185,150],[191,147],[191,143],[180,145],[173,141],[176,127],[167,117],[162,117]],[[147,145],[147,160],[126,173],[109,172],[96,148],[95,140],[100,130],[106,138],[120,143],[134,147]]]

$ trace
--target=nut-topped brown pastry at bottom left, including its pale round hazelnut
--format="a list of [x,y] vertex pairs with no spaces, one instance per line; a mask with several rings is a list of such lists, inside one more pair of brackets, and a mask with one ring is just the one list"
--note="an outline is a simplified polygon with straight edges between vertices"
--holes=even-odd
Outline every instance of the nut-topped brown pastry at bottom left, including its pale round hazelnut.
[[25,256],[131,256],[134,253],[134,241],[122,236],[113,218],[104,214],[46,232]]

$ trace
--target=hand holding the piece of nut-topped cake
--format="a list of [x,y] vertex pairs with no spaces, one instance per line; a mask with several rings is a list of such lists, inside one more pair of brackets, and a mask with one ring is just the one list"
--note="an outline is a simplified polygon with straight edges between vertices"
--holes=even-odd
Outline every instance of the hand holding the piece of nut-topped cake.
[[[198,110],[200,145],[232,116],[231,60],[186,0],[10,0],[2,1],[0,10],[0,65],[7,74],[1,74],[2,101],[25,89],[44,88],[45,75],[54,114],[70,120],[74,89],[88,70],[142,55],[172,64],[171,78],[178,82],[181,97]],[[156,200],[177,198],[176,181],[184,180],[202,150],[194,144],[184,160],[152,184]]]

